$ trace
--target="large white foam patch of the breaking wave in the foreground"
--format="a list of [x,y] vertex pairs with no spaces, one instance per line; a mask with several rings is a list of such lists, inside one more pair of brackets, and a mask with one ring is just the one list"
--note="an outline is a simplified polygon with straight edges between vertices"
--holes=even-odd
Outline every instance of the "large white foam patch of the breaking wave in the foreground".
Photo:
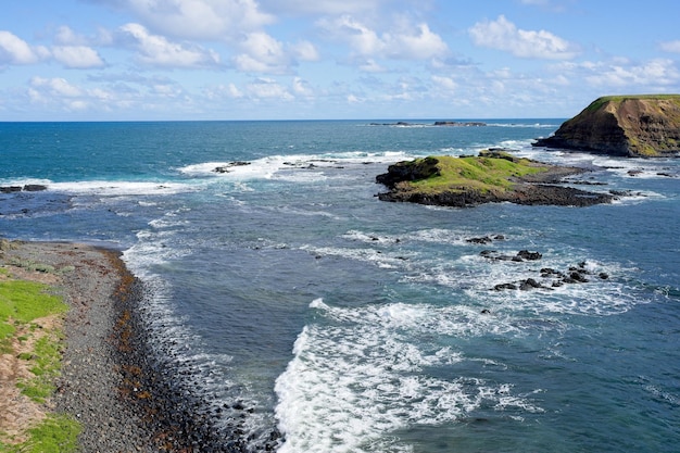
[[493,316],[459,305],[339,309],[320,299],[312,305],[328,323],[304,327],[293,360],[276,381],[276,415],[286,436],[280,452],[408,451],[391,436],[395,430],[451,423],[482,404],[541,411],[508,385],[429,376],[426,367],[456,366],[466,358],[449,347],[410,340],[493,331],[491,324],[499,323]]

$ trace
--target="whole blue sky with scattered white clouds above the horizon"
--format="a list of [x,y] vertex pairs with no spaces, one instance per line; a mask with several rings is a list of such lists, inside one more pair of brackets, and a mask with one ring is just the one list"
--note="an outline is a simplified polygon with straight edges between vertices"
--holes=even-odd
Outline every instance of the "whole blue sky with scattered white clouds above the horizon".
[[680,93],[677,0],[2,0],[0,121],[567,118]]

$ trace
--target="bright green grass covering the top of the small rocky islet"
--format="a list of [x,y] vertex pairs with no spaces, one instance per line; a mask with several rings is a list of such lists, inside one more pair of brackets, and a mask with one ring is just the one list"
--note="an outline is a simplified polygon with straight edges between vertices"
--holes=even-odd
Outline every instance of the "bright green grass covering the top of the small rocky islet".
[[537,166],[528,159],[514,158],[504,152],[482,152],[479,156],[462,158],[440,155],[417,159],[411,164],[423,165],[426,160],[430,160],[430,164],[435,163],[437,171],[431,172],[430,176],[423,179],[405,183],[414,190],[424,193],[436,193],[444,190],[502,192],[514,186],[514,178],[545,169]]

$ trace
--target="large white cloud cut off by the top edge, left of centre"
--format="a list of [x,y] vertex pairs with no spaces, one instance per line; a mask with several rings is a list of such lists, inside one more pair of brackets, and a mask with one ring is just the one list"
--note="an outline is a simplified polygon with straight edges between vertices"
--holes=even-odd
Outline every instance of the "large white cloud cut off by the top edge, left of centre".
[[151,29],[182,39],[223,40],[269,24],[255,0],[124,0]]

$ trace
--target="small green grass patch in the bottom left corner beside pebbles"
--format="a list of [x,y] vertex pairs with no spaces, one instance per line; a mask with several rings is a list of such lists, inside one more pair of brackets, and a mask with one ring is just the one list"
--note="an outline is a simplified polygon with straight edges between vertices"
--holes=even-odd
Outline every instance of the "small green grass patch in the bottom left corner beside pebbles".
[[4,444],[7,453],[65,453],[77,451],[80,425],[71,417],[48,415],[41,423],[27,430],[29,439],[22,443]]

